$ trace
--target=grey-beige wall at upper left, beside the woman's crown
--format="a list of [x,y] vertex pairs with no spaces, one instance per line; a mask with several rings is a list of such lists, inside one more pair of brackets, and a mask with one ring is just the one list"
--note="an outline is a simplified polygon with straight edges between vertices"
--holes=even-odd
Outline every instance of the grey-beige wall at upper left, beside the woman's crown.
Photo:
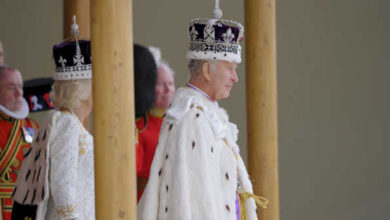
[[50,76],[52,46],[62,41],[62,1],[0,0],[0,40],[5,63],[24,79]]

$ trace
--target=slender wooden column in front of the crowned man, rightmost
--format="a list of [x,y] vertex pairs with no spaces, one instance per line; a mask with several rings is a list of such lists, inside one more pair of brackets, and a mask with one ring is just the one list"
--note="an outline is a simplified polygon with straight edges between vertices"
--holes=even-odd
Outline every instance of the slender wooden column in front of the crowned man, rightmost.
[[275,0],[245,0],[248,166],[261,220],[279,220]]

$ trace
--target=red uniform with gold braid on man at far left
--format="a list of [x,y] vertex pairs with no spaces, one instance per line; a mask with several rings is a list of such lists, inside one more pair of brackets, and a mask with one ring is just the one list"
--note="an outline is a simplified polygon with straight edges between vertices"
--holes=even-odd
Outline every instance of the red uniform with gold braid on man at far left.
[[0,200],[3,220],[11,219],[13,201],[10,198],[16,177],[37,130],[38,124],[32,119],[15,119],[0,112]]

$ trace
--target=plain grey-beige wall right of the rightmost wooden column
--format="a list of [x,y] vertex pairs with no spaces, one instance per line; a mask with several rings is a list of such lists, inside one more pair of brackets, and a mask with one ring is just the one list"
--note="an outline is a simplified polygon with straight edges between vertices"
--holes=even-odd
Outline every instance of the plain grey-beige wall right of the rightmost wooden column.
[[389,8],[278,1],[282,219],[390,218]]

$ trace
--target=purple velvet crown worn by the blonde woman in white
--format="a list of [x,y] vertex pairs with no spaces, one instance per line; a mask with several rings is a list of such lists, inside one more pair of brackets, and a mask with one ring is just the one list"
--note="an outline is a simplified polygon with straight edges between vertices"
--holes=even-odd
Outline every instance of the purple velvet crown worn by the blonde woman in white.
[[73,16],[72,34],[75,41],[54,45],[53,57],[56,64],[54,80],[79,80],[92,78],[91,44],[88,40],[78,40],[79,26]]

